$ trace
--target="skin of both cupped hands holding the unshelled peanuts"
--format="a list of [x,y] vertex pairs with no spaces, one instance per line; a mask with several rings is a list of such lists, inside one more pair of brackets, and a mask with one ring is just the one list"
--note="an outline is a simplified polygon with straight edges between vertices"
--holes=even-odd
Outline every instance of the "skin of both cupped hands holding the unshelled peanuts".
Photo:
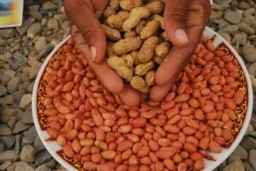
[[[155,101],[166,97],[178,74],[189,62],[189,57],[199,43],[211,14],[208,0],[163,0],[163,2],[166,4],[165,30],[173,48],[156,72],[157,84],[150,92],[151,100]],[[65,11],[72,23],[73,38],[90,67],[100,77],[103,85],[113,94],[119,94],[126,105],[138,105],[141,94],[128,83],[124,83],[106,63],[107,41],[98,19],[107,5],[108,0],[65,0],[64,2]],[[187,41],[180,41],[177,38],[177,30],[186,33]],[[92,60],[91,47],[96,48],[95,60]]]

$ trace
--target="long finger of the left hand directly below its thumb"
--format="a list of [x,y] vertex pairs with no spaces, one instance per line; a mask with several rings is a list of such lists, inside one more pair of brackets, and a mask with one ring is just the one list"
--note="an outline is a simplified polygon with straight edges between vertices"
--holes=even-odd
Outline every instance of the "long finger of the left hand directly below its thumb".
[[81,54],[84,55],[90,68],[95,71],[96,76],[100,78],[102,84],[113,94],[119,94],[122,92],[124,88],[123,80],[108,66],[106,61],[103,61],[101,64],[96,64],[90,59],[90,48],[84,42],[84,38],[79,33],[78,28],[72,26],[71,32]]

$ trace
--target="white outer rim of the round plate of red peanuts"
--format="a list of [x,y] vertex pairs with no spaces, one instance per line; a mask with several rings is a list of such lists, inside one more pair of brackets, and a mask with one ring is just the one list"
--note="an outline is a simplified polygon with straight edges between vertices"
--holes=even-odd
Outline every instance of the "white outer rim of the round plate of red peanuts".
[[[239,134],[237,134],[236,139],[233,141],[232,145],[230,145],[230,148],[228,149],[229,151],[224,152],[224,154],[221,155],[220,159],[218,159],[217,161],[212,162],[212,164],[208,167],[208,168],[204,168],[204,171],[207,170],[213,170],[214,168],[217,168],[222,162],[224,162],[224,160],[226,160],[227,157],[230,157],[231,153],[233,151],[235,151],[236,147],[239,145],[239,143],[241,142],[242,138],[244,137],[246,131],[247,131],[247,127],[250,123],[251,117],[252,117],[252,111],[253,111],[253,87],[252,87],[252,83],[251,83],[251,79],[249,77],[249,74],[247,72],[247,68],[243,62],[243,60],[241,59],[241,56],[236,52],[236,50],[230,45],[230,43],[228,43],[224,37],[221,37],[216,31],[213,31],[211,28],[207,27],[205,28],[205,31],[208,31],[209,33],[211,33],[212,35],[216,35],[221,43],[224,43],[232,52],[232,54],[234,54],[234,56],[236,57],[236,60],[238,60],[241,69],[245,75],[246,78],[246,82],[247,82],[247,91],[248,91],[248,104],[247,104],[247,112],[246,112],[246,117],[244,118],[244,122],[242,124],[242,127],[240,129]],[[47,143],[44,139],[44,136],[42,134],[42,129],[40,128],[40,124],[38,121],[38,109],[37,109],[37,98],[38,98],[38,84],[40,82],[40,79],[44,73],[44,70],[46,68],[46,66],[49,63],[49,60],[52,58],[52,56],[57,52],[57,50],[59,48],[61,48],[61,46],[65,43],[67,43],[67,40],[71,37],[71,35],[68,35],[66,38],[64,38],[61,43],[59,43],[51,52],[50,54],[46,57],[46,59],[44,60],[44,64],[41,66],[40,70],[38,71],[38,76],[35,80],[34,83],[34,87],[33,87],[33,91],[32,91],[32,117],[33,117],[33,122],[35,125],[35,128],[37,130],[38,136],[40,138],[40,140],[42,141],[42,143],[44,144],[44,147],[46,148],[47,151],[49,151],[49,154],[55,158],[55,160],[57,162],[59,162],[64,168],[67,168],[67,170],[78,170],[76,168],[74,168],[71,164],[69,164],[68,162],[66,162],[65,160],[63,160],[55,151],[52,151],[49,148],[49,143]],[[221,154],[221,153],[220,153]]]

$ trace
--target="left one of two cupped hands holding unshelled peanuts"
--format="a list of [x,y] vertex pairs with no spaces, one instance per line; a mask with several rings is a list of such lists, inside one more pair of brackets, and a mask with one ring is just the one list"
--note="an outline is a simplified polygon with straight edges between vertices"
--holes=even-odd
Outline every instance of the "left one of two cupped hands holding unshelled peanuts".
[[106,60],[106,36],[99,22],[108,0],[65,0],[64,7],[71,20],[71,34],[90,68],[113,94],[119,94],[126,105],[138,105],[140,94],[111,69]]

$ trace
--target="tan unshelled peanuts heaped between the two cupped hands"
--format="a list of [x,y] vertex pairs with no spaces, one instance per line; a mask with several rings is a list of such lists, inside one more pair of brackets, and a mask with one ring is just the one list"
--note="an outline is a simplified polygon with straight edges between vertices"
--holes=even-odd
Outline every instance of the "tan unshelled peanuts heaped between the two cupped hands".
[[102,29],[108,37],[108,66],[131,87],[148,93],[157,67],[168,54],[162,17],[165,4],[142,0],[111,0],[103,13]]

